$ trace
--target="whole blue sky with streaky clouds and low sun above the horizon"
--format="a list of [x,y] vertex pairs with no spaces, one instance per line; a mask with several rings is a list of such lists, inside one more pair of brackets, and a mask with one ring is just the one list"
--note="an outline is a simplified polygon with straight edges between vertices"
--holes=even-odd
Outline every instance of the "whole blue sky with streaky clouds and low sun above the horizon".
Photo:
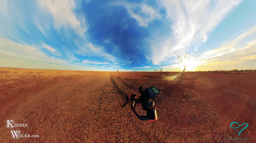
[[[256,0],[0,0],[0,67],[256,69]],[[177,55],[190,52],[178,62]]]

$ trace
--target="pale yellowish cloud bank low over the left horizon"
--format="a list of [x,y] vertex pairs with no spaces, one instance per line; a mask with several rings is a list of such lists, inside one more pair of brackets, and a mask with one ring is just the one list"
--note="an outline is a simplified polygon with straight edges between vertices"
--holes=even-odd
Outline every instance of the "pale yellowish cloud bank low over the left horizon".
[[[40,51],[40,46],[36,47],[19,44],[0,37],[0,66],[53,70],[115,70],[113,65],[108,62],[83,60],[83,64],[80,65],[70,64],[68,61],[47,56],[44,52]],[[84,66],[86,64],[94,64],[96,67]],[[99,66],[98,64],[105,65]]]

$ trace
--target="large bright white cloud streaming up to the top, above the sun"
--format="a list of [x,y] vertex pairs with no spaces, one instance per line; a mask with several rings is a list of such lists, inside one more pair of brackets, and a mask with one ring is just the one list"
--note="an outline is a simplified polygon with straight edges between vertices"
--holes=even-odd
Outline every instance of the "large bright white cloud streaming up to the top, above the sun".
[[187,50],[192,44],[201,45],[206,42],[207,35],[240,2],[241,0],[160,0],[159,5],[165,8],[166,18],[171,22],[173,36],[161,43],[152,43],[151,50],[159,52],[147,58],[154,64],[160,64]]

